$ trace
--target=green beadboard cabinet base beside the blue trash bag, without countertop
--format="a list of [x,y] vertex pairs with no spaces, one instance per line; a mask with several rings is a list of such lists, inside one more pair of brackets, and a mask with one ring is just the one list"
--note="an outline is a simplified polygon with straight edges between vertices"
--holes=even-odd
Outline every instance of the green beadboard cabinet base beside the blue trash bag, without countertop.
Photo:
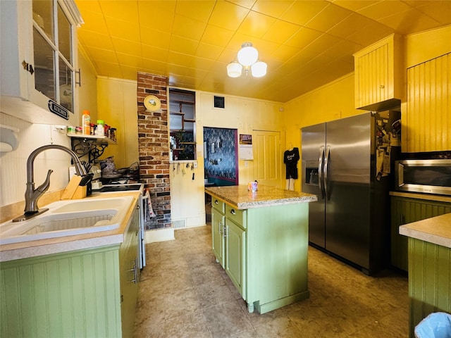
[[409,337],[433,312],[451,313],[451,249],[409,238]]

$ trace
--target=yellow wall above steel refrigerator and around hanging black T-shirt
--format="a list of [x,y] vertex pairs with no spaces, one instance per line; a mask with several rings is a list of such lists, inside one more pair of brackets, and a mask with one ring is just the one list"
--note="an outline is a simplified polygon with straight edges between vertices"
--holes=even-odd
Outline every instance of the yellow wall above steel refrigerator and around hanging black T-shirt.
[[[286,142],[298,147],[300,152],[302,127],[364,112],[354,108],[354,73],[345,75],[285,104]],[[297,166],[299,180],[295,181],[295,190],[299,192],[302,180],[301,161]]]

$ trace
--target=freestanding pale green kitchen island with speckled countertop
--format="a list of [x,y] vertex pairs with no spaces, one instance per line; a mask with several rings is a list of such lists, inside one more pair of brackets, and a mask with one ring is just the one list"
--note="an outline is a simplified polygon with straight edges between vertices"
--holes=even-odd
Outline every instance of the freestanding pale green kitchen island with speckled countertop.
[[259,185],[208,187],[212,251],[249,312],[309,298],[309,202],[315,195]]

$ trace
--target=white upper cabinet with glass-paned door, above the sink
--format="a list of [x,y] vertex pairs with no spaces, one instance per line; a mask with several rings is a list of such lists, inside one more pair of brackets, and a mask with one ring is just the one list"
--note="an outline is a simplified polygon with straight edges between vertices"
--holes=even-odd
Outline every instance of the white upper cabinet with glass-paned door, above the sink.
[[1,107],[32,123],[78,124],[73,1],[0,1]]

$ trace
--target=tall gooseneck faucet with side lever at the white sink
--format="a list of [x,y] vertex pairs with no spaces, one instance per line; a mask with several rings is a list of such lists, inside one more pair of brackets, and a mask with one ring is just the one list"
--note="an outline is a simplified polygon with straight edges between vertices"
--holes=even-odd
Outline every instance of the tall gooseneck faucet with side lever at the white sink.
[[80,159],[78,156],[70,149],[66,148],[66,146],[60,146],[58,144],[48,144],[46,146],[40,146],[35,151],[33,151],[30,156],[28,156],[27,159],[27,190],[25,191],[25,210],[24,214],[22,216],[19,216],[18,218],[15,218],[13,222],[20,222],[23,220],[27,220],[29,218],[35,217],[36,215],[39,215],[40,213],[43,213],[44,211],[47,211],[48,209],[42,209],[39,211],[39,208],[37,207],[37,200],[45,193],[50,187],[50,175],[53,173],[54,170],[49,169],[47,172],[47,178],[35,189],[35,178],[34,178],[34,166],[33,163],[35,162],[35,158],[38,154],[42,153],[42,151],[45,151],[47,149],[59,149],[62,151],[66,151],[72,159],[73,163],[75,165],[75,171],[80,176],[87,175],[85,167],[83,167],[82,163],[80,162]]

